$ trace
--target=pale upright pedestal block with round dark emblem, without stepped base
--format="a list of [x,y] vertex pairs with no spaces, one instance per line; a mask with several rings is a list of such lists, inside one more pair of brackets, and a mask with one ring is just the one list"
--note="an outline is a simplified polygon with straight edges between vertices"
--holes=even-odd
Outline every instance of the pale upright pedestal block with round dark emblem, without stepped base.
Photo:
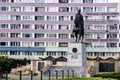
[[86,48],[83,43],[69,43],[68,45],[68,66],[86,67]]

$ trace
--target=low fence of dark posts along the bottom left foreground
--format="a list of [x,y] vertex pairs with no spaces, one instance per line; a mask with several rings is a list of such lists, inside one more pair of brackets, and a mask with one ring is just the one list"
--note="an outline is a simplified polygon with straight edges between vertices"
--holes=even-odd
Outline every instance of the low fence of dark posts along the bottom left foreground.
[[[67,74],[65,73],[67,72]],[[73,78],[74,70],[55,70],[55,75],[51,74],[51,71],[48,70],[47,74],[44,74],[43,71],[40,71],[38,76],[34,76],[33,71],[30,71],[29,75],[25,76],[22,74],[22,71],[19,71],[17,75],[8,74],[6,71],[4,77],[0,80],[58,80],[64,78]]]

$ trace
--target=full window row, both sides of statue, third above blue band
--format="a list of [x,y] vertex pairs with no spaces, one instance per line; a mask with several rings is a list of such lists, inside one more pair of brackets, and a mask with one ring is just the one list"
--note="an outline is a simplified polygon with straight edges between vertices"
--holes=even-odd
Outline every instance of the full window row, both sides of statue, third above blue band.
[[[10,24],[10,29],[73,29],[74,25],[42,25],[42,24]],[[107,25],[85,25],[86,30],[118,30],[120,25],[107,24]],[[119,28],[118,28],[119,27]],[[0,28],[9,28],[8,24],[0,24]]]

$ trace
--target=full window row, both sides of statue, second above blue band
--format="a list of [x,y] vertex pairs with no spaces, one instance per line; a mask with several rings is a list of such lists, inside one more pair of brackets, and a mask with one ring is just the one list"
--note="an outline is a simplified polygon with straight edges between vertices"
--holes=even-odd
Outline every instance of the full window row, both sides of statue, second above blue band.
[[[0,33],[0,37],[9,37],[9,33]],[[10,38],[69,38],[69,34],[45,34],[45,33],[10,33]],[[117,34],[97,33],[85,34],[85,39],[117,39]]]

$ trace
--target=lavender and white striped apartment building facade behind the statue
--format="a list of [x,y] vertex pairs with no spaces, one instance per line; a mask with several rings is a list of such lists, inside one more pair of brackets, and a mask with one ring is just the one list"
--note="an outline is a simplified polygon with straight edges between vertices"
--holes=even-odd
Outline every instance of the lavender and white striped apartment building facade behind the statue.
[[112,0],[0,0],[0,55],[66,56],[81,8],[87,56],[120,57],[120,5]]

